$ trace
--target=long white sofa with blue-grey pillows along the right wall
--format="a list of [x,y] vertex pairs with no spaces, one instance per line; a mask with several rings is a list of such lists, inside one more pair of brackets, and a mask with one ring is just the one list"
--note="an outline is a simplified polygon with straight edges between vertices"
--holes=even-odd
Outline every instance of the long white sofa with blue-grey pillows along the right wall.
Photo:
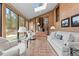
[[[60,36],[57,37],[57,35]],[[55,51],[59,56],[69,56],[70,55],[69,43],[75,40],[71,37],[71,35],[73,35],[75,38],[76,36],[79,37],[79,33],[76,32],[55,31],[51,32],[47,40],[51,44],[51,46],[55,49]]]

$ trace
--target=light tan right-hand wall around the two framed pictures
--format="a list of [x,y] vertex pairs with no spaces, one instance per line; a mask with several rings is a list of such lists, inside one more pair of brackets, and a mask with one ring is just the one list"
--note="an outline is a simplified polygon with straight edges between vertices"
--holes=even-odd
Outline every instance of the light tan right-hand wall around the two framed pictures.
[[74,31],[79,32],[79,27],[61,27],[61,20],[76,14],[79,14],[79,4],[78,3],[62,3],[59,5],[60,9],[60,19],[56,23],[56,28],[61,31]]

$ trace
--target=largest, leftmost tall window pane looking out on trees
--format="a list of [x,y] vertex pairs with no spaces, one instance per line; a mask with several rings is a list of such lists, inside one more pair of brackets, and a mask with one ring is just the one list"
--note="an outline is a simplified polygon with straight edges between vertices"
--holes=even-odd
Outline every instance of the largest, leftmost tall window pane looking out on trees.
[[9,41],[17,40],[17,15],[6,8],[6,39]]

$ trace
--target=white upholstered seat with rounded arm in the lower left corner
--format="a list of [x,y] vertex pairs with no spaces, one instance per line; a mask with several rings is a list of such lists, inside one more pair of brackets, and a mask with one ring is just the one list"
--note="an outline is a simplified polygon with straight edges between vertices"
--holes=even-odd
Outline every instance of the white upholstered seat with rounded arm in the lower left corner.
[[9,42],[0,37],[0,56],[25,56],[26,45],[24,42]]

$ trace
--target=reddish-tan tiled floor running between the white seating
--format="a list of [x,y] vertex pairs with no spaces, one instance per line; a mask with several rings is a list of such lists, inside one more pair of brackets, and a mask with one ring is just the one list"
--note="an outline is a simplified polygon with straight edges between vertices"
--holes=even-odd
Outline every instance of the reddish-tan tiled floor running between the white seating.
[[56,56],[55,51],[45,37],[38,37],[36,40],[31,40],[27,54],[28,56]]

